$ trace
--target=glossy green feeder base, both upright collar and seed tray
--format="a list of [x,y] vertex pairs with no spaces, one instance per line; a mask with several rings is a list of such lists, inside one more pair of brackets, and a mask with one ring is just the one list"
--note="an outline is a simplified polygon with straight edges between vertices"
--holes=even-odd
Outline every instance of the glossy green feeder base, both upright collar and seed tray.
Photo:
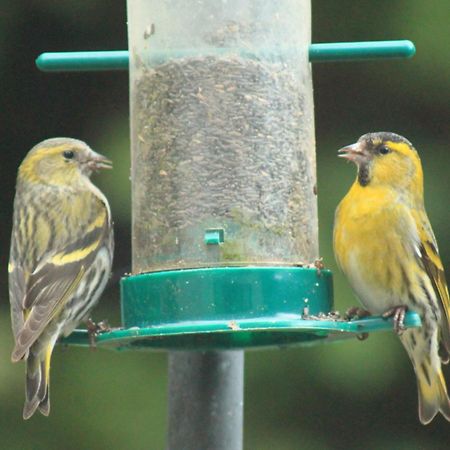
[[[123,329],[97,345],[123,349],[208,350],[328,342],[392,329],[381,317],[330,314],[332,274],[304,267],[222,267],[153,272],[122,279]],[[407,327],[421,325],[415,313]],[[76,330],[64,344],[89,345]]]

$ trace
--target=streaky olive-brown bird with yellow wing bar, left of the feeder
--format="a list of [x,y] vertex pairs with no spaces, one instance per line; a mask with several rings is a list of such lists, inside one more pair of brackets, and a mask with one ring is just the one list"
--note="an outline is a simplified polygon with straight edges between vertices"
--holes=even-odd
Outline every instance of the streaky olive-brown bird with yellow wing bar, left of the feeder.
[[48,415],[56,340],[86,319],[111,272],[113,229],[93,171],[111,162],[76,139],[33,147],[19,167],[9,260],[15,346],[26,360],[24,419]]

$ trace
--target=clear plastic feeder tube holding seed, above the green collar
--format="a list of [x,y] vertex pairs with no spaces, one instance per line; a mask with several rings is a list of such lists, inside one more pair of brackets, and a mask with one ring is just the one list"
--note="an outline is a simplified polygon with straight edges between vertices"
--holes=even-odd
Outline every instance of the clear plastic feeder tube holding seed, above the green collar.
[[133,271],[314,261],[310,2],[129,0],[128,30]]

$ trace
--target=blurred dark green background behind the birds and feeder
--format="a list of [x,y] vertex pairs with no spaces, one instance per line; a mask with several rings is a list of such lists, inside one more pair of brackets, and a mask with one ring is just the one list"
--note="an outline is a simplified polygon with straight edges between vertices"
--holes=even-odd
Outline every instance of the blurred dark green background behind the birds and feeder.
[[[321,254],[338,310],[355,304],[332,256],[336,204],[352,183],[336,149],[368,131],[395,131],[421,152],[427,210],[450,267],[450,35],[442,0],[314,0],[313,41],[411,39],[412,60],[314,65]],[[43,74],[44,51],[125,49],[125,0],[2,0],[0,4],[0,448],[163,449],[166,355],[58,347],[52,413],[24,422],[23,365],[9,360],[6,265],[17,167],[47,137],[86,140],[115,170],[97,180],[116,223],[117,273],[130,261],[128,77]],[[119,323],[117,284],[94,313]],[[450,371],[446,369],[450,381]],[[417,418],[412,367],[392,333],[364,342],[246,355],[246,449],[444,449],[450,424]]]

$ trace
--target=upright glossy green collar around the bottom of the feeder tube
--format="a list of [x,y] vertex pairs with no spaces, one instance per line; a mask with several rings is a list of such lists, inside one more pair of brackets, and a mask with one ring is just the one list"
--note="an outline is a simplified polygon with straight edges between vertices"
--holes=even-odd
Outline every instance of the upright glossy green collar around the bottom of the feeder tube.
[[[270,333],[278,321],[332,307],[331,272],[302,267],[174,270],[122,279],[122,322],[151,328],[159,339],[136,345],[243,348],[311,340]],[[156,342],[159,341],[159,342]]]

